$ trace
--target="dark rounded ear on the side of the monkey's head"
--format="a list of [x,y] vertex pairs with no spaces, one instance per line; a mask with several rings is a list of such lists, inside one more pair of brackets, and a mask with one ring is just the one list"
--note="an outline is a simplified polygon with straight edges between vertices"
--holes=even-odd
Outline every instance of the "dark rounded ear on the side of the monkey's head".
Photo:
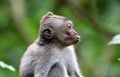
[[54,37],[54,31],[51,28],[46,28],[42,31],[42,36],[45,40],[51,40]]

